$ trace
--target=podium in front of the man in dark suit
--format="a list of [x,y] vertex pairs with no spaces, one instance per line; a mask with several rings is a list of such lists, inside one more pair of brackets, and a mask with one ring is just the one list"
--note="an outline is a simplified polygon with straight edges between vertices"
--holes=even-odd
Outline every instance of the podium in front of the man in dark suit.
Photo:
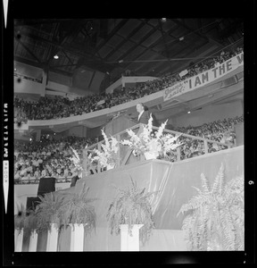
[[104,128],[104,132],[109,137],[113,136],[123,130],[127,130],[137,125],[137,121],[131,120],[127,115],[122,114],[112,121],[109,121]]

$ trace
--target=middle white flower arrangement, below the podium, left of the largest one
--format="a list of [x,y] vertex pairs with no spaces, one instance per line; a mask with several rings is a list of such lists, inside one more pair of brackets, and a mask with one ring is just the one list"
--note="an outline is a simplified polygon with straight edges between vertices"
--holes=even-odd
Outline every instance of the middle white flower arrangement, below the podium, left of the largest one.
[[109,165],[114,166],[118,163],[117,153],[119,150],[119,142],[116,138],[113,137],[111,137],[111,140],[109,140],[104,133],[104,130],[102,130],[102,135],[104,136],[105,141],[105,144],[101,145],[103,151],[94,149],[93,152],[88,155],[88,158],[91,163],[98,162],[101,164],[102,167],[107,167]]

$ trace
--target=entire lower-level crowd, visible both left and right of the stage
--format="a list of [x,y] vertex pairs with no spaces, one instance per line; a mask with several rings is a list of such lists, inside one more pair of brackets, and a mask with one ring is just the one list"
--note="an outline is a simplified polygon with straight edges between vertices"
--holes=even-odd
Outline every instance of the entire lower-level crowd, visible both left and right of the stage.
[[[236,146],[235,125],[244,122],[244,116],[236,116],[224,120],[204,123],[197,127],[179,127],[175,131],[198,138],[207,138],[208,153],[217,152],[228,147]],[[41,140],[42,141],[42,140]],[[79,138],[69,136],[60,139],[48,139],[43,143],[24,143],[16,141],[14,148],[14,183],[37,183],[40,178],[51,176],[59,181],[70,181],[76,177],[74,164],[70,161],[71,147],[76,149],[80,157],[82,150],[98,141],[97,138]],[[180,136],[180,160],[205,154],[204,143],[200,139]],[[219,144],[220,143],[220,144]],[[224,146],[225,145],[225,146]],[[178,155],[169,155],[166,160],[176,161]]]

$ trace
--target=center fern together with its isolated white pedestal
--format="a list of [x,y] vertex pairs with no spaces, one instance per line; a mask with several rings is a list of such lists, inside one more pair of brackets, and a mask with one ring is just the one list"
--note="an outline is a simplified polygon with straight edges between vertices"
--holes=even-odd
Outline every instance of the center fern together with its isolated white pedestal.
[[[139,250],[139,239],[145,244],[145,241],[149,239],[154,228],[152,207],[149,198],[155,192],[147,193],[145,188],[137,188],[137,183],[132,178],[130,180],[131,185],[127,189],[115,187],[119,192],[110,204],[106,214],[109,227],[111,228],[111,234],[114,232],[118,235],[121,230],[121,251]],[[139,239],[138,237],[134,239],[135,247],[129,244],[123,245],[124,240],[128,241],[128,243],[129,240],[133,240],[133,233],[138,235],[139,229]]]

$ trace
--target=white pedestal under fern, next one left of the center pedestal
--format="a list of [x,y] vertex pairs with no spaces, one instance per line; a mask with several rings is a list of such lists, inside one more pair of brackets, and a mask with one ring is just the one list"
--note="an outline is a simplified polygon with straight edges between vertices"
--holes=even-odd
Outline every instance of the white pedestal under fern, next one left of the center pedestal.
[[83,251],[84,248],[84,226],[83,224],[70,224],[70,251]]

